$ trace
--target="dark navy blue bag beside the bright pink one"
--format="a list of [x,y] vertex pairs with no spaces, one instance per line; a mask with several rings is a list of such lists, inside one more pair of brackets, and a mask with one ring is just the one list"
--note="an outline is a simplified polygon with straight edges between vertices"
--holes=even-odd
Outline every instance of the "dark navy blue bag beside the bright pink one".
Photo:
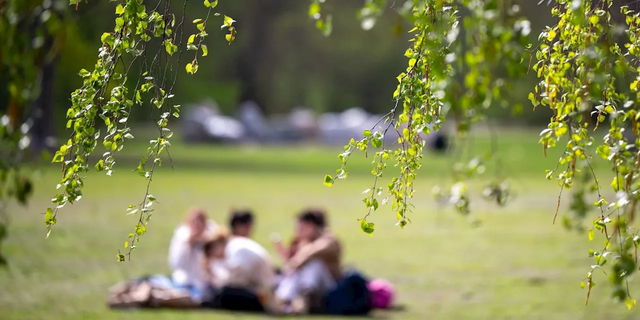
[[352,271],[324,297],[324,312],[339,316],[362,316],[371,311],[371,292],[367,280]]

